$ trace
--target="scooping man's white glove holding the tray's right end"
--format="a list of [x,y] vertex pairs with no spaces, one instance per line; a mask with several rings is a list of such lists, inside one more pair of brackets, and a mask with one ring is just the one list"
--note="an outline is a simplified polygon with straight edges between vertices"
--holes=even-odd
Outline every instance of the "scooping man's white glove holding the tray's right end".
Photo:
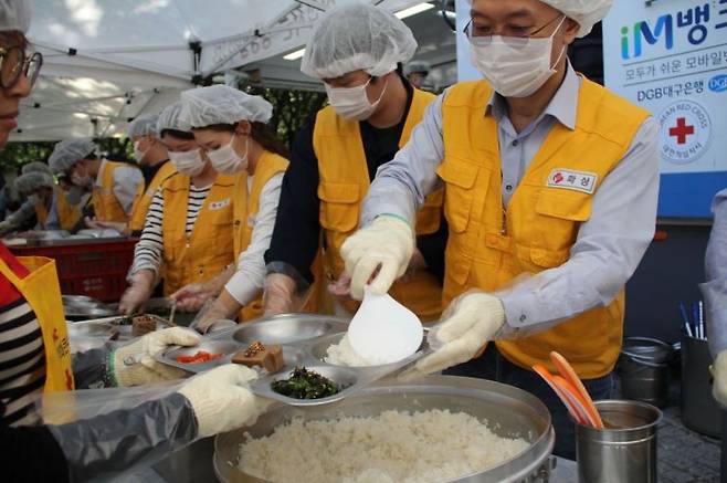
[[444,311],[444,322],[429,334],[433,354],[417,363],[407,376],[422,376],[472,359],[505,324],[499,298],[480,291],[455,298]]

